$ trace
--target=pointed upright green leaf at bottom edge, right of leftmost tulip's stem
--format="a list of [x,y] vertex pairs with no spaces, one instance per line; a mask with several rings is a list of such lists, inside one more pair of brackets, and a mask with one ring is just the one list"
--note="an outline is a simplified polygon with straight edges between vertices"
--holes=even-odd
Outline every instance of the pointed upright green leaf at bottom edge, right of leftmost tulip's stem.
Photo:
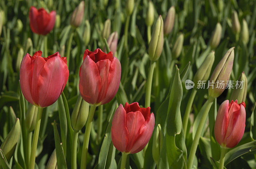
[[62,149],[62,145],[60,143],[60,135],[57,129],[57,124],[56,121],[54,120],[53,123],[53,132],[54,132],[54,140],[55,140],[55,149],[56,149],[56,158],[57,158],[57,166],[59,169],[66,169],[67,164],[66,164],[66,159],[64,156],[64,152]]

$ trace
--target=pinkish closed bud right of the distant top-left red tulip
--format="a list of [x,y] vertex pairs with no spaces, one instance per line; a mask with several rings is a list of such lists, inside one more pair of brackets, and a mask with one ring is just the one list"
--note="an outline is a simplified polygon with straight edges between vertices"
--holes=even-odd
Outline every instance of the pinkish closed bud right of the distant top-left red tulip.
[[81,1],[76,9],[73,11],[70,18],[70,25],[79,27],[84,17],[84,1]]

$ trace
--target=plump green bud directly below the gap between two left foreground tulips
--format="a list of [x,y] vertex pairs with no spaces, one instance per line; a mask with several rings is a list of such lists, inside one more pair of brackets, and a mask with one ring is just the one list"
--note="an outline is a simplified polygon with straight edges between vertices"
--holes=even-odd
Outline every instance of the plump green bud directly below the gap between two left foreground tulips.
[[86,111],[88,109],[89,104],[79,95],[71,115],[71,124],[74,130],[79,131],[84,127],[89,113]]

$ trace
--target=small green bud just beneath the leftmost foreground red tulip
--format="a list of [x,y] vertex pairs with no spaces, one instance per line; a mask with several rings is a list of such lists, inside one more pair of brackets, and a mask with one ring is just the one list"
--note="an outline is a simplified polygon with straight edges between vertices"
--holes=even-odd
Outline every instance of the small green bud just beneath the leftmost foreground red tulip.
[[25,118],[25,126],[28,131],[35,130],[36,126],[37,107],[29,104]]

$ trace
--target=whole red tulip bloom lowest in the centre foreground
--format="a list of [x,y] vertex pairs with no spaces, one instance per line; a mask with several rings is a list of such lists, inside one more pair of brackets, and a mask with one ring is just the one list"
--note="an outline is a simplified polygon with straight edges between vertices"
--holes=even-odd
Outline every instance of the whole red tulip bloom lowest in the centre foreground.
[[112,142],[117,150],[137,153],[147,144],[153,133],[155,116],[150,107],[140,108],[139,103],[125,103],[116,109],[111,127]]

